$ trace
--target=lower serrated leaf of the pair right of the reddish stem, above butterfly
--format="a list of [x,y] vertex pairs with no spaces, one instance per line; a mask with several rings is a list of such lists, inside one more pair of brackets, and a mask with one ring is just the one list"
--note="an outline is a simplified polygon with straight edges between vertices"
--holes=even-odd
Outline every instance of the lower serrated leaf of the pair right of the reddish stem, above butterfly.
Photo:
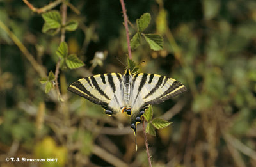
[[156,34],[145,34],[145,40],[148,42],[150,48],[154,51],[163,49],[163,37]]

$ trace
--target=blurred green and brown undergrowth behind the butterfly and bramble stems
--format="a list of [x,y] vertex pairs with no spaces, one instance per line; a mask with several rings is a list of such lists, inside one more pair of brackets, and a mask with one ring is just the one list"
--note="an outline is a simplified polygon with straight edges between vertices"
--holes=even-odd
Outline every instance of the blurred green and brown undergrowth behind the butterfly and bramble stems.
[[[30,1],[41,8],[51,1]],[[120,1],[70,1],[70,53],[86,64],[61,70],[60,91],[44,93],[40,75],[3,30],[10,28],[45,72],[55,71],[60,34],[42,33],[44,20],[23,1],[0,1],[0,166],[148,166],[142,131],[138,152],[129,117],[106,116],[100,106],[67,92],[92,74],[124,72],[127,43]],[[132,51],[140,72],[182,82],[188,91],[154,107],[172,121],[148,136],[153,166],[256,166],[256,1],[130,0],[132,24],[152,16],[147,33],[164,38],[163,51],[144,41]],[[54,8],[60,10],[60,5]],[[129,26],[131,36],[136,31]],[[95,52],[104,52],[99,60]],[[102,66],[100,64],[102,63]],[[46,74],[46,73],[45,73]],[[141,129],[141,123],[138,125]],[[58,158],[57,163],[6,162],[6,157]]]

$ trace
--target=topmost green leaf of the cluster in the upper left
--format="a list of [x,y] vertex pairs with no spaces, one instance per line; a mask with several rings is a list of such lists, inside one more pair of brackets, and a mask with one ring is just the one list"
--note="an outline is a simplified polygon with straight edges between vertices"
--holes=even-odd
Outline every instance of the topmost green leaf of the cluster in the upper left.
[[50,29],[61,27],[61,16],[57,10],[52,10],[50,12],[43,13],[42,17]]

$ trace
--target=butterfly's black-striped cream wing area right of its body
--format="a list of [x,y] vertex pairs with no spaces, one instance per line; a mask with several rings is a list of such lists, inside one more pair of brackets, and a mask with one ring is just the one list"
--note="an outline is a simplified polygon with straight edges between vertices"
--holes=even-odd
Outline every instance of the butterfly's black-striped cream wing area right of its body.
[[159,104],[186,91],[186,87],[179,81],[157,74],[133,74],[132,81],[133,121],[148,104]]

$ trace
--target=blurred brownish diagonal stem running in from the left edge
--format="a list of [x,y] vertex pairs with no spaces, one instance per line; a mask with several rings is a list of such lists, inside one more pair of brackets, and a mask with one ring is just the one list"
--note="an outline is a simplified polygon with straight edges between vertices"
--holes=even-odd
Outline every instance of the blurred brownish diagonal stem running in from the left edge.
[[19,38],[17,38],[17,36],[7,26],[5,26],[5,24],[1,22],[1,20],[0,20],[0,28],[2,28],[10,36],[10,38],[17,45],[17,47],[19,47],[20,51],[28,59],[28,61],[33,66],[33,68],[35,68],[36,72],[38,72],[40,77],[46,77],[44,68],[39,63],[37,63],[37,61],[32,56],[32,54],[30,54],[28,49],[22,44],[22,42],[20,42]]

